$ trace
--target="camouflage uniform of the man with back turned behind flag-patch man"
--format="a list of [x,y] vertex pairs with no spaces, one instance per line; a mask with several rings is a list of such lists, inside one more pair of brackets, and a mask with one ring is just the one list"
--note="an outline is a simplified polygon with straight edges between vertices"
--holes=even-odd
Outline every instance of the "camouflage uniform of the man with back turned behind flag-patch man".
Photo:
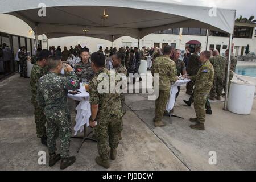
[[217,96],[221,96],[223,90],[226,60],[221,55],[217,55],[210,59],[210,63],[212,63],[214,68],[214,80],[212,90],[210,90],[210,96],[214,97],[216,94]]

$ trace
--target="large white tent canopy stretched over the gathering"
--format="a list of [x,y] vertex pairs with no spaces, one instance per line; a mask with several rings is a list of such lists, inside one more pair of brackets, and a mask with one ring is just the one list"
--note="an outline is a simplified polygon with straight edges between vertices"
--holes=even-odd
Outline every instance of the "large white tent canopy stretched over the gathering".
[[[39,3],[46,5],[46,17],[39,17]],[[233,34],[236,10],[188,6],[175,1],[125,0],[3,0],[0,13],[14,15],[26,22],[34,31],[38,22],[38,35],[49,38],[60,36],[86,36],[112,41],[121,36],[143,38],[167,28],[201,27]],[[101,18],[106,10],[109,18]],[[210,16],[209,11],[216,12]],[[215,11],[216,10],[216,11]]]

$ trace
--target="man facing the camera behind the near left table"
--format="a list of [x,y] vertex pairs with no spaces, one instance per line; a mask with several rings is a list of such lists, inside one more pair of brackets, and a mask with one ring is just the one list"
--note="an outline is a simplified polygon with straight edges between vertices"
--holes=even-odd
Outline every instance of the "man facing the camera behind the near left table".
[[89,62],[90,53],[88,48],[84,48],[81,50],[81,61],[75,64],[74,70],[76,75],[79,77],[80,82],[82,79],[86,79],[88,82],[93,77],[93,69],[91,67],[91,63]]

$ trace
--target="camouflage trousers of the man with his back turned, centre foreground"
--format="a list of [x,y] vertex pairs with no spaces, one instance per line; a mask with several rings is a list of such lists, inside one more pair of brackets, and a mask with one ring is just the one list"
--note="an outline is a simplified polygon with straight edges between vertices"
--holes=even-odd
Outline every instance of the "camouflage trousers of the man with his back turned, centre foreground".
[[[121,118],[115,116],[98,119],[95,127],[98,154],[102,160],[109,159],[109,148],[117,148],[119,144],[118,134],[121,130]],[[108,141],[109,139],[109,141]]]

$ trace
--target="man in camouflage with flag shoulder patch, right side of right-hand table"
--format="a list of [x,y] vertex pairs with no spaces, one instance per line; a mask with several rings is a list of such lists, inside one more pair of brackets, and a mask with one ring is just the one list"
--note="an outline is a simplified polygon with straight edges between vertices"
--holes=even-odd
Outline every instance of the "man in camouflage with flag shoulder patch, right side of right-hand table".
[[214,78],[214,68],[210,64],[210,52],[203,51],[200,55],[200,63],[202,66],[199,68],[197,75],[189,77],[191,80],[195,81],[194,89],[194,99],[195,99],[195,112],[196,118],[190,118],[191,122],[196,122],[196,125],[190,125],[192,129],[195,130],[205,130],[205,102],[207,101],[210,89],[212,89],[213,78]]

